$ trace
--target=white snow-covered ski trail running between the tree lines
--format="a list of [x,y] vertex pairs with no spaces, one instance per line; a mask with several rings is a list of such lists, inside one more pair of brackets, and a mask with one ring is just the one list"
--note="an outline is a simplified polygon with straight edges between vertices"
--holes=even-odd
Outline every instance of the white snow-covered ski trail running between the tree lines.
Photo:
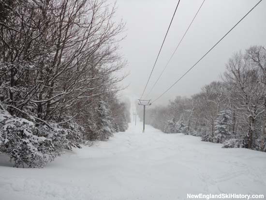
[[142,124],[67,152],[44,169],[0,156],[0,200],[177,200],[191,194],[264,194],[266,154],[222,149]]

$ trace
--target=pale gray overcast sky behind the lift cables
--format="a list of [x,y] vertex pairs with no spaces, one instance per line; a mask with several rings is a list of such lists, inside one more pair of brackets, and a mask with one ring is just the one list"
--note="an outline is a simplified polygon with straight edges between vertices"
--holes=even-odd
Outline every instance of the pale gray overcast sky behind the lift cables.
[[[206,0],[163,76],[150,93],[154,99],[182,76],[212,47],[258,0]],[[202,0],[181,0],[163,50],[148,84],[147,93],[189,26]],[[117,17],[126,22],[127,37],[121,51],[130,71],[125,91],[139,98],[169,26],[177,0],[117,0]],[[238,50],[252,45],[266,46],[266,0],[262,1],[196,67],[167,92],[158,104],[177,95],[190,96],[201,87],[219,80],[225,63]],[[145,96],[145,95],[144,95]]]

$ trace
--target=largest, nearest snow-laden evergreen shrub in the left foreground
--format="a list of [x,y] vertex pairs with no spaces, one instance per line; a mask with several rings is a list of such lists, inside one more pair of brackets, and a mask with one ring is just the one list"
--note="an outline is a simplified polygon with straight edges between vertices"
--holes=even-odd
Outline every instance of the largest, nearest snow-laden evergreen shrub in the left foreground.
[[0,152],[15,161],[15,167],[44,167],[57,153],[52,139],[38,136],[39,131],[28,120],[1,112]]

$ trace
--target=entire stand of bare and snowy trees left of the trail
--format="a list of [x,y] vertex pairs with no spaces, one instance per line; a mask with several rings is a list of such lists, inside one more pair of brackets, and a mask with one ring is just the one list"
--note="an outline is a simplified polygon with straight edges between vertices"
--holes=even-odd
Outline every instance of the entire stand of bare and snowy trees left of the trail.
[[16,167],[127,129],[115,11],[104,0],[0,0],[0,152]]

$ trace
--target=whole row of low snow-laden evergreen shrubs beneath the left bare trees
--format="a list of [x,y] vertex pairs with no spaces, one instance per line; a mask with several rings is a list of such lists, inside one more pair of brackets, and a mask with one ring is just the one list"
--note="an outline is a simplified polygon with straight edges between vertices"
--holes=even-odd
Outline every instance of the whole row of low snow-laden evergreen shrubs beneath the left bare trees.
[[7,154],[15,167],[42,168],[62,154],[62,149],[80,148],[80,135],[73,126],[37,124],[1,111],[0,152]]

